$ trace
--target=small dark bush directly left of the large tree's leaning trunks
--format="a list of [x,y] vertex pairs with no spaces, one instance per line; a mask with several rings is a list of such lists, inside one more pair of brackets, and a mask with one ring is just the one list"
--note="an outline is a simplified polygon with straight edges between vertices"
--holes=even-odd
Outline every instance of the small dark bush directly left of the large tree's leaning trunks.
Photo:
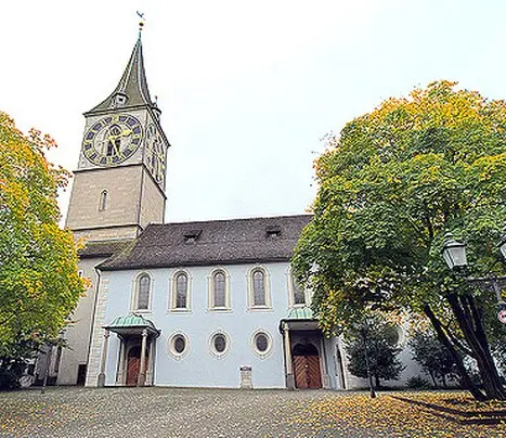
[[438,388],[438,381],[441,381],[446,388],[447,379],[456,376],[455,360],[436,333],[431,330],[416,330],[407,344],[413,359],[430,375],[434,387]]

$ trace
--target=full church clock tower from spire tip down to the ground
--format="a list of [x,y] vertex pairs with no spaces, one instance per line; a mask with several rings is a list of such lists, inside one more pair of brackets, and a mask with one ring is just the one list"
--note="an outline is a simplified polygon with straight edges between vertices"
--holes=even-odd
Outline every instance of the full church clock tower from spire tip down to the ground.
[[66,227],[85,239],[79,271],[91,285],[65,330],[69,348],[53,356],[49,376],[60,385],[83,385],[90,357],[100,355],[90,346],[94,314],[104,305],[95,267],[126,249],[147,223],[164,222],[169,142],[147,89],[141,33],[119,83],[85,117]]

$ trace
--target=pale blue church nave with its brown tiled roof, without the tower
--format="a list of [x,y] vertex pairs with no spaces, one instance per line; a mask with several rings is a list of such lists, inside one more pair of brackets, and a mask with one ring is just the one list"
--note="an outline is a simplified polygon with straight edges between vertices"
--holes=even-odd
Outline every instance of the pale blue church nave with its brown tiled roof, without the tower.
[[148,226],[98,267],[87,385],[343,388],[337,339],[289,271],[309,220]]

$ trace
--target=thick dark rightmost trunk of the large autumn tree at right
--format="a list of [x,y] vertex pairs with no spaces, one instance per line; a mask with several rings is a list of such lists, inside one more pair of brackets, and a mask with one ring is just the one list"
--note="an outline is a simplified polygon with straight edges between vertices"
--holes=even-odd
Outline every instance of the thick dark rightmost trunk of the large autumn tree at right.
[[[497,369],[490,353],[489,343],[481,323],[481,314],[470,295],[458,297],[447,294],[460,331],[475,353],[478,370],[483,382],[483,389],[489,399],[506,400],[506,392],[501,383]],[[479,335],[479,336],[478,336]]]

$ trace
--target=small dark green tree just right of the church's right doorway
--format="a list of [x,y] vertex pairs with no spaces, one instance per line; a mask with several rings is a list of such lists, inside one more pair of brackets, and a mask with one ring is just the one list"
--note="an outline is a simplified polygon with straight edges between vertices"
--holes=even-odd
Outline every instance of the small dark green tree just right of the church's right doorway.
[[356,377],[367,378],[365,349],[371,375],[375,387],[380,388],[380,381],[397,381],[404,370],[398,356],[397,327],[376,317],[346,331],[345,345],[348,357],[348,370]]

